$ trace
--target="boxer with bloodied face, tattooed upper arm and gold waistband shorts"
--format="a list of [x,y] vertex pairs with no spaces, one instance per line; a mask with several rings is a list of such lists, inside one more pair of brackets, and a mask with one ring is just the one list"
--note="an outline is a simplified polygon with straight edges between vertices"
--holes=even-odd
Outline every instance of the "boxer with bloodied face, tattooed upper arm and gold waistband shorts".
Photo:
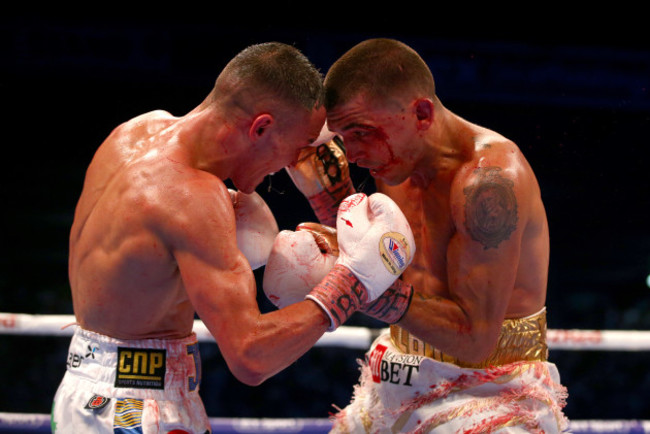
[[[416,408],[432,432],[496,432],[502,425],[531,432],[536,421],[547,432],[563,429],[565,391],[544,342],[549,229],[522,151],[444,106],[426,62],[399,41],[371,39],[350,49],[327,72],[325,95],[327,127],[342,140],[346,159],[369,169],[377,190],[397,203],[418,247],[400,279],[413,288],[412,301],[391,327],[393,339],[373,344],[362,384],[334,430],[416,430],[419,419],[406,415]],[[391,364],[407,358],[417,362]],[[388,369],[381,371],[386,375],[370,375],[371,364]],[[493,369],[512,373],[517,366],[531,375],[508,377],[522,392],[509,400],[514,383]],[[398,381],[399,373],[411,375],[409,385]],[[463,383],[474,376],[494,383]],[[424,393],[446,387],[451,393],[461,383],[458,396]],[[522,398],[526,384],[540,400]],[[483,425],[452,418],[478,415],[483,404],[493,408]],[[513,411],[517,406],[525,417]],[[443,413],[456,422],[442,423]]]

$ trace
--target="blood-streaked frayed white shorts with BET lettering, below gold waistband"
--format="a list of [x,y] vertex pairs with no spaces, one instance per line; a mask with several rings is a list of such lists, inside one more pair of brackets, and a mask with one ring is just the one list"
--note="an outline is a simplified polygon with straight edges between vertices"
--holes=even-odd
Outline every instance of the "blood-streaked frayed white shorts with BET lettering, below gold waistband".
[[333,433],[559,433],[566,389],[554,364],[519,361],[462,368],[402,353],[388,333],[360,362],[352,402]]

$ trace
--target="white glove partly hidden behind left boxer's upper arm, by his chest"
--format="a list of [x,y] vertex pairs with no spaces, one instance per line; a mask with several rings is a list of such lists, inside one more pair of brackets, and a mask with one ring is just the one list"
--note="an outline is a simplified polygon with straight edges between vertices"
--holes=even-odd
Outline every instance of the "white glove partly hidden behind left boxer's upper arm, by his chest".
[[278,223],[258,193],[245,194],[232,189],[228,193],[235,209],[237,247],[255,270],[266,264],[279,232]]

